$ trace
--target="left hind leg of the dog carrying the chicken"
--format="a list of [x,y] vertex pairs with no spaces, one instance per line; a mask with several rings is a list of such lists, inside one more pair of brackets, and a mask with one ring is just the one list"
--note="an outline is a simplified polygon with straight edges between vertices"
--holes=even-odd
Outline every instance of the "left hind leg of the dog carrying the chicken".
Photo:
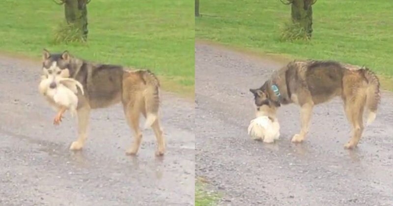
[[124,105],[124,114],[127,119],[127,123],[130,128],[134,131],[134,143],[131,145],[130,149],[126,151],[127,155],[135,155],[138,153],[140,142],[142,141],[142,132],[139,128],[139,118],[140,118],[140,105],[131,104]]

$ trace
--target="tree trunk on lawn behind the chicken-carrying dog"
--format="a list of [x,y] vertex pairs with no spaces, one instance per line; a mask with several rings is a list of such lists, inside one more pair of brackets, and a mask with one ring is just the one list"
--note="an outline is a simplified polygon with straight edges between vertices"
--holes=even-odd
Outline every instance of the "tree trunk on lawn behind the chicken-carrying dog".
[[67,24],[80,29],[82,39],[87,40],[87,0],[66,0],[64,3],[64,14]]

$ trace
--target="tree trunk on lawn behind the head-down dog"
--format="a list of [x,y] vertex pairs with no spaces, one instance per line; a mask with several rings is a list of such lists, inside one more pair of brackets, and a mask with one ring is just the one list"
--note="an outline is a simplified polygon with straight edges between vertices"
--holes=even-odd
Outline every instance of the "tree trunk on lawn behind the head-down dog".
[[312,3],[313,0],[293,0],[291,3],[292,22],[304,28],[308,38],[312,33]]

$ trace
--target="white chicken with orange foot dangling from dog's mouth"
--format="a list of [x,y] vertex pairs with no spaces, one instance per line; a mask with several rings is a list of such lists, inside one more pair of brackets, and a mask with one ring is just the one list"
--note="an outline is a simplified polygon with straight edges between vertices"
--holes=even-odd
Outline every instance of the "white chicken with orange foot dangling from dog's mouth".
[[42,76],[38,89],[54,109],[58,111],[54,120],[54,124],[58,125],[66,110],[70,110],[72,117],[77,113],[78,87],[82,95],[84,95],[84,89],[83,85],[73,78],[58,78],[55,88],[50,87],[52,82],[52,79]]

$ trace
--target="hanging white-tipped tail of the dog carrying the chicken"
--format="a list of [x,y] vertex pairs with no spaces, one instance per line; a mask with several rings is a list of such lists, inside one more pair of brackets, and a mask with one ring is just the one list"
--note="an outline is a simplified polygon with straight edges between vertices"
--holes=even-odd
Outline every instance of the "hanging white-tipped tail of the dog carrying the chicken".
[[146,110],[144,129],[147,129],[158,119],[158,110],[160,107],[160,81],[150,70],[142,70],[141,75],[146,84],[143,96]]

